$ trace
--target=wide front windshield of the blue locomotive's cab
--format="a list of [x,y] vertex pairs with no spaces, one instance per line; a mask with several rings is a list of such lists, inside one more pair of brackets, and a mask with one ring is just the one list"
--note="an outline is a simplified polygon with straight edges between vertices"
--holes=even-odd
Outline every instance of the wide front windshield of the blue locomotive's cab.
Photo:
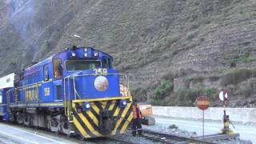
[[90,70],[100,66],[101,66],[101,63],[99,61],[86,61],[86,60],[67,60],[66,61],[66,71]]

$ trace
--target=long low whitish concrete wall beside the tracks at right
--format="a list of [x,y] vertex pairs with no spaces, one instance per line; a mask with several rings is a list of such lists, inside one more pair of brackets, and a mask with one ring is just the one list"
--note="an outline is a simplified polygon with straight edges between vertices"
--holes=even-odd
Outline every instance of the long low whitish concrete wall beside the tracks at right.
[[[153,106],[153,114],[174,118],[202,118],[202,110],[197,107]],[[226,108],[226,114],[234,122],[255,122],[256,108]],[[210,107],[205,110],[205,119],[222,120],[223,108]]]

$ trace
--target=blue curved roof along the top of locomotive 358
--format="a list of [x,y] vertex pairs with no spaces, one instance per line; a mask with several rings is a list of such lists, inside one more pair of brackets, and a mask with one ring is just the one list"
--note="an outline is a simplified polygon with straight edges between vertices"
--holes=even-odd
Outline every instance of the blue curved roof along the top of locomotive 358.
[[[94,49],[93,47],[75,47],[75,49],[74,49],[74,48],[68,48],[68,49],[63,50],[63,51],[61,51],[61,52],[58,52],[57,54],[51,55],[49,58],[46,58],[46,59],[42,60],[41,62],[38,62],[38,63],[34,64],[33,66],[27,67],[27,68],[24,70],[24,72],[25,72],[26,74],[34,73],[35,71],[38,71],[38,70],[40,69],[40,66],[43,66],[43,65],[46,65],[47,63],[52,62],[52,59],[53,59],[53,58],[55,58],[55,57],[57,57],[57,56],[59,56],[59,55],[61,55],[61,54],[63,54],[63,53],[66,53],[67,51],[70,52],[70,51],[72,51],[72,50],[86,49],[86,48],[87,48],[87,49],[91,49],[91,50],[96,50],[96,49]],[[110,54],[106,54],[105,52],[102,52],[101,50],[97,50],[97,51],[100,52],[101,54],[104,54],[104,55],[110,57],[111,59],[113,59],[113,57],[110,56]],[[26,74],[25,74],[25,75],[26,75]]]

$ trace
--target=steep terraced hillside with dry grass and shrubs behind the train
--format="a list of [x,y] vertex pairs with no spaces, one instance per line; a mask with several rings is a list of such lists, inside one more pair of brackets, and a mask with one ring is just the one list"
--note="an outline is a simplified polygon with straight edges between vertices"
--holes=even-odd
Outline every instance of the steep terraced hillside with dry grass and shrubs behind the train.
[[213,99],[222,88],[236,96],[234,102],[255,96],[254,0],[0,0],[2,75],[93,42],[130,74],[142,101],[150,101],[163,80],[174,83],[166,101],[179,90],[205,87],[215,90]]

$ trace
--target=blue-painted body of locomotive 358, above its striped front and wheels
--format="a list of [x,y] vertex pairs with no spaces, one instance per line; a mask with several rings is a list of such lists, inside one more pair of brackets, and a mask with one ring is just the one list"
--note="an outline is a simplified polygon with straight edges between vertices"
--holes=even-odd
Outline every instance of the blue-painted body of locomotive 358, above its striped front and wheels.
[[[89,68],[80,70],[83,61],[92,63],[88,64]],[[119,75],[117,70],[113,70],[112,61],[113,58],[109,54],[91,47],[74,48],[54,54],[50,58],[26,68],[20,74],[18,102],[12,102],[10,106],[60,107],[64,97],[66,99],[75,97],[84,99],[120,96]],[[79,70],[73,70],[73,63]],[[107,75],[95,74],[98,69],[104,69]],[[58,72],[60,73],[58,74]],[[94,82],[99,76],[107,79],[104,91],[95,88]],[[14,105],[14,103],[18,105]]]

